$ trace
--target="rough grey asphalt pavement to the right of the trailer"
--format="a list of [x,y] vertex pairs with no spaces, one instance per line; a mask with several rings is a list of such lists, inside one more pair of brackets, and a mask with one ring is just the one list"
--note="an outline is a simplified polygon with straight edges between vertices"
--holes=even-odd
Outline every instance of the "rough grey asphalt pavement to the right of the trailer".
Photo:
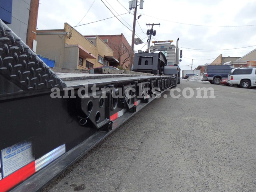
[[[185,80],[178,88],[41,191],[255,192],[256,88]],[[198,88],[209,88],[208,96]]]

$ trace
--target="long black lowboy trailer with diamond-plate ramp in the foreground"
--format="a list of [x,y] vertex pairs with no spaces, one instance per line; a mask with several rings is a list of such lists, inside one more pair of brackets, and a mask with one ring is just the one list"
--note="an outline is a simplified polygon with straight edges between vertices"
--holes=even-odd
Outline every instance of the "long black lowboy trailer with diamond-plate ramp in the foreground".
[[54,73],[0,20],[0,192],[40,190],[174,86],[146,73]]

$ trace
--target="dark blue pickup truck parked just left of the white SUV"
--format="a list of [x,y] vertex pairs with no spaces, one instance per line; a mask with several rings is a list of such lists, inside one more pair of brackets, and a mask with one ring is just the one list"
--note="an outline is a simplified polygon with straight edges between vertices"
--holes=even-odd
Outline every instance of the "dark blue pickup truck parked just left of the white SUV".
[[230,66],[228,65],[206,65],[204,66],[203,80],[211,84],[220,84],[222,78],[228,78]]

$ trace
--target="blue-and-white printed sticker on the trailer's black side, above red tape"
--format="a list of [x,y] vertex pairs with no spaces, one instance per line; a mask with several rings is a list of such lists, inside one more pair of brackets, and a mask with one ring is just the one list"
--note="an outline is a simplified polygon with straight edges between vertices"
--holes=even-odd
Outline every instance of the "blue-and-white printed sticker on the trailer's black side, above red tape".
[[24,141],[1,150],[2,177],[12,174],[16,170],[35,160],[32,142]]

